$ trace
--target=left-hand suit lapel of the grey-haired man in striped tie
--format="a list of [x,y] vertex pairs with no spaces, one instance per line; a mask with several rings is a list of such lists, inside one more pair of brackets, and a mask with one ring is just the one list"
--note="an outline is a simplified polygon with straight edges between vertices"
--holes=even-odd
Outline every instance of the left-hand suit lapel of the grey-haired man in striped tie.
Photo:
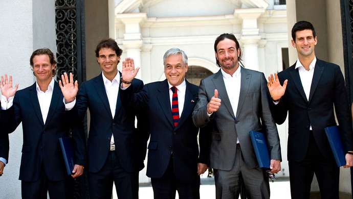
[[169,88],[168,88],[167,80],[164,80],[163,82],[161,82],[157,90],[159,92],[159,94],[157,95],[157,100],[162,107],[165,117],[170,122],[170,124],[173,125],[174,127],[173,117],[171,114]]

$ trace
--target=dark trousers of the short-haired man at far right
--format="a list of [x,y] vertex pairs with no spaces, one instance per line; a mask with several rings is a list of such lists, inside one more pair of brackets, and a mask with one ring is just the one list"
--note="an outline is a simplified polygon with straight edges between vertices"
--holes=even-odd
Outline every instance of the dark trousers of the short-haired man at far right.
[[324,158],[310,131],[309,146],[305,159],[289,162],[291,195],[293,199],[310,198],[314,173],[318,180],[321,198],[339,198],[340,169],[334,157]]

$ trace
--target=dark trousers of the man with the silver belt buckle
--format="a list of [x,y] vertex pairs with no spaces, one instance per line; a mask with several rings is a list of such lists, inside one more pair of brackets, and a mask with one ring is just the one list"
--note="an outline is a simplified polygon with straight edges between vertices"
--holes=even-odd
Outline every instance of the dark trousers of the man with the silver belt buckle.
[[90,198],[112,198],[113,182],[119,198],[139,198],[139,172],[128,173],[120,164],[115,151],[109,151],[103,168],[89,172]]

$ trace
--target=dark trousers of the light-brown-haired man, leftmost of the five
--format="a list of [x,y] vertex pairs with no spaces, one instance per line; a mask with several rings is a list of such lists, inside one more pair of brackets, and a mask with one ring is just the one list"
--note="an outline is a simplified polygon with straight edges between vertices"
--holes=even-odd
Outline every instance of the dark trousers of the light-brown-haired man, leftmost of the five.
[[[43,168],[43,167],[42,167]],[[21,181],[21,195],[24,199],[47,199],[47,193],[52,198],[73,198],[74,179],[68,176],[62,181],[51,181],[46,172],[41,169],[39,180],[34,182]]]

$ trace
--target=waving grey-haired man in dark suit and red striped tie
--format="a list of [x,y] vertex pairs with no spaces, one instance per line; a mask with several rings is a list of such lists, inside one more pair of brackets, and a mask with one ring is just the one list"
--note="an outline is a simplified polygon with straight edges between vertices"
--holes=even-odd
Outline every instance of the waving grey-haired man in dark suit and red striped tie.
[[[188,58],[179,48],[169,49],[163,57],[166,80],[146,84],[133,93],[134,60],[126,59],[122,69],[120,98],[124,107],[147,109],[150,122],[147,176],[155,198],[200,198],[200,175],[207,169],[205,144],[197,145],[198,128],[192,122],[198,86],[185,80]],[[126,88],[127,87],[127,88]],[[176,88],[176,89],[175,89]],[[177,92],[178,101],[175,101]],[[178,108],[177,108],[178,107]],[[178,109],[178,112],[175,111]],[[207,153],[207,152],[206,152]]]

